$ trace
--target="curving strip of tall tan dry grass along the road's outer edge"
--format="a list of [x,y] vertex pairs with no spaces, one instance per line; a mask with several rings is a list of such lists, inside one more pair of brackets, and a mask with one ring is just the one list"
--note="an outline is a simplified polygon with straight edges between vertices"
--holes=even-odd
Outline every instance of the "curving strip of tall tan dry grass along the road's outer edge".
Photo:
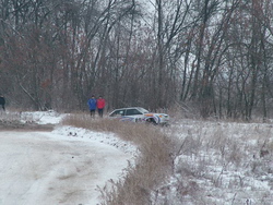
[[141,152],[134,165],[129,164],[123,179],[112,182],[111,188],[100,189],[102,204],[150,204],[151,190],[156,189],[171,171],[174,144],[161,126],[91,119],[88,114],[71,114],[63,124],[114,132],[122,140],[133,142]]

